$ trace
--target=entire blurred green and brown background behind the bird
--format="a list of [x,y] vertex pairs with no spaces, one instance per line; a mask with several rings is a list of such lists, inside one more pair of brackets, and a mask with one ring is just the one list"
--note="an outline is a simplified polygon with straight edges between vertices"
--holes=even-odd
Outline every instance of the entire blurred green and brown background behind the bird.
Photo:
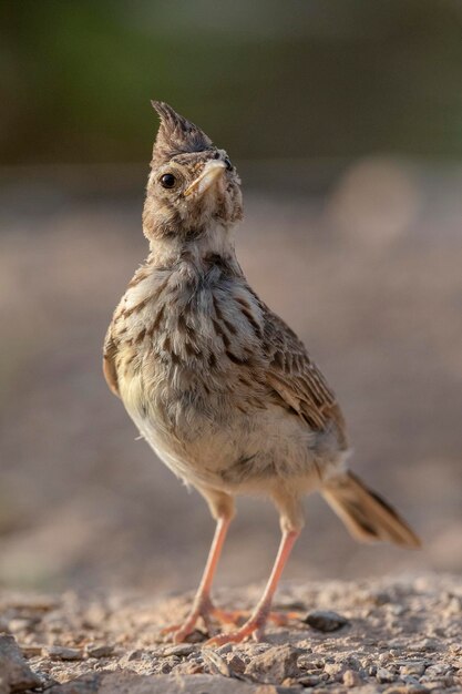
[[[461,2],[3,0],[0,27],[0,584],[181,590],[205,561],[205,503],[101,372],[147,249],[153,98],[230,154],[251,284],[424,541],[361,547],[311,497],[286,579],[462,571]],[[279,540],[269,502],[238,509],[220,584]]]

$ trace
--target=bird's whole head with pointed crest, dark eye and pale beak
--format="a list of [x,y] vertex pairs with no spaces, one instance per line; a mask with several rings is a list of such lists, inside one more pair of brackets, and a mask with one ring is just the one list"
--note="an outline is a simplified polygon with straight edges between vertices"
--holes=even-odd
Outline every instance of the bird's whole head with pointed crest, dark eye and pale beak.
[[225,150],[166,103],[147,181],[143,227],[152,241],[198,238],[242,218],[240,180]]

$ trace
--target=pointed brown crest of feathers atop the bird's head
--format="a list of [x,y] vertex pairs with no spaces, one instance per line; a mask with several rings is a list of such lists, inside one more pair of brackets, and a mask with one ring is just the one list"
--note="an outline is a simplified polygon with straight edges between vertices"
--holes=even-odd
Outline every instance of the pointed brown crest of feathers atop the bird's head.
[[153,163],[166,162],[176,154],[209,150],[212,140],[194,123],[176,113],[163,101],[152,101],[161,118],[154,143]]

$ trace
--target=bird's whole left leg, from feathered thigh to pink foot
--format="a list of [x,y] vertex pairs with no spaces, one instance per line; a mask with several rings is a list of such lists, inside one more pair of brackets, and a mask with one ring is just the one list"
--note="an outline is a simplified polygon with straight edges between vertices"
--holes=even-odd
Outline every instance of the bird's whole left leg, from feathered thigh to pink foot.
[[182,641],[184,641],[194,631],[197,620],[199,618],[204,620],[206,627],[209,629],[211,615],[216,614],[218,619],[220,616],[220,611],[217,610],[212,602],[211,589],[218,560],[222,554],[226,533],[228,531],[230,521],[233,520],[234,504],[233,499],[222,492],[205,493],[204,491],[202,491],[202,493],[206,497],[212,513],[216,518],[217,523],[211,550],[208,552],[207,563],[205,564],[204,573],[196,595],[194,598],[189,614],[187,615],[183,624],[168,626],[167,629],[163,630],[164,634],[173,632],[174,643],[181,643]]

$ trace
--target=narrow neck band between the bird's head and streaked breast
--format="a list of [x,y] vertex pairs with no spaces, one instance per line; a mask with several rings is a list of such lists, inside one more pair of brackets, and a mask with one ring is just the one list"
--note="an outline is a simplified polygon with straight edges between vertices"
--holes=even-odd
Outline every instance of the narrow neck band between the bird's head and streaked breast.
[[211,226],[199,236],[184,238],[168,236],[150,243],[150,265],[157,268],[174,268],[184,261],[197,267],[209,266],[211,262],[224,262],[236,274],[242,269],[236,258],[233,232],[222,225]]

